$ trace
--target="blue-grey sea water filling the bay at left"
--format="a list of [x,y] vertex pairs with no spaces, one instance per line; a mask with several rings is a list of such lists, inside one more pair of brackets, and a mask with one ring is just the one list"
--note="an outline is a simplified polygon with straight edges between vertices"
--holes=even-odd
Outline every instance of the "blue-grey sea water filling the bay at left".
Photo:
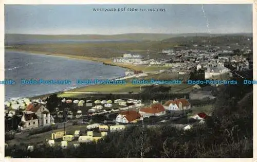
[[[33,97],[82,87],[77,79],[113,79],[123,76],[125,69],[101,62],[67,59],[27,52],[5,51],[5,79],[16,84],[5,85],[5,100]],[[70,80],[70,85],[22,85],[21,79]]]

